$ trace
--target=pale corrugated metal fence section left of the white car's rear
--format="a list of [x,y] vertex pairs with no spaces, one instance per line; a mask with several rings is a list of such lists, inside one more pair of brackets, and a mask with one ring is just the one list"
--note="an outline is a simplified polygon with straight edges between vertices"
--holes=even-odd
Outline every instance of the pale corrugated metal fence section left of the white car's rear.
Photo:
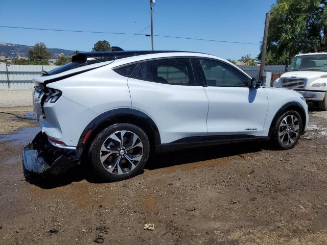
[[11,65],[0,64],[0,88],[33,88],[32,78],[41,71],[50,71],[57,65]]

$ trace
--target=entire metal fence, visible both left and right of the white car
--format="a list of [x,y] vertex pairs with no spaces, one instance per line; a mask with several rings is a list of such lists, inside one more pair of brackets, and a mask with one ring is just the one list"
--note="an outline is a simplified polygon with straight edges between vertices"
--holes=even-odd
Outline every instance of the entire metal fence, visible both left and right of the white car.
[[[0,64],[0,89],[1,88],[33,88],[32,78],[41,75],[41,71],[50,71],[57,65],[6,65]],[[240,65],[251,77],[259,77],[260,66]],[[283,74],[285,65],[267,65],[265,71]]]

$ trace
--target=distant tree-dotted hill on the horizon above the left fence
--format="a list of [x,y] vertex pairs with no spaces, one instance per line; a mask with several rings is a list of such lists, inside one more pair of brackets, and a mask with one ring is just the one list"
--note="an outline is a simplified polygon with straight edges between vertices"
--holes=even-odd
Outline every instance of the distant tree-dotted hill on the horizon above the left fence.
[[[27,58],[31,48],[33,46],[0,42],[0,56],[7,58]],[[48,48],[48,50],[52,53],[51,59],[57,59],[58,55],[69,56],[75,52],[73,50],[63,50],[62,48]]]

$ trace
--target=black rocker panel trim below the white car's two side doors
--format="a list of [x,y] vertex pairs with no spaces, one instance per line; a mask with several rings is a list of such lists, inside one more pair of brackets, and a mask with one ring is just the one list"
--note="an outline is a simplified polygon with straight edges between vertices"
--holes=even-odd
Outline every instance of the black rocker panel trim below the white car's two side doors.
[[197,148],[209,145],[241,143],[248,141],[269,140],[270,137],[253,135],[216,135],[216,136],[197,136],[182,138],[171,143],[157,146],[157,152],[171,152],[188,148]]

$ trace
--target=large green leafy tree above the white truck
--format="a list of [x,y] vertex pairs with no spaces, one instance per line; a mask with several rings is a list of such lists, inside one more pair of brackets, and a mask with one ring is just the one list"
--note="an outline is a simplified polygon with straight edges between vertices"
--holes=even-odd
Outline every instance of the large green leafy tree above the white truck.
[[[327,51],[327,0],[276,0],[270,10],[267,64]],[[261,59],[261,54],[258,56]]]

